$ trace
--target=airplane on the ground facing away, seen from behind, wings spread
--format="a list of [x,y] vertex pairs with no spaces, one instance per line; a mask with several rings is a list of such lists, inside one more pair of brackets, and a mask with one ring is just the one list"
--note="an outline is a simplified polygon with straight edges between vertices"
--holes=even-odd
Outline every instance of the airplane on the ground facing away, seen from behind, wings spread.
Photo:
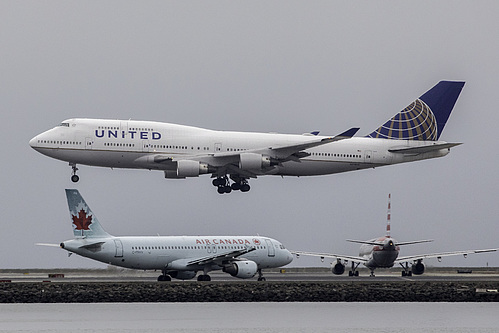
[[[394,264],[400,264],[402,266],[402,276],[412,276],[421,275],[424,273],[425,266],[423,264],[423,259],[437,258],[441,261],[442,257],[463,255],[465,258],[468,254],[472,253],[485,253],[494,252],[497,249],[486,249],[486,250],[467,250],[467,251],[454,251],[454,252],[442,252],[442,253],[432,253],[432,254],[419,254],[413,256],[399,257],[400,246],[409,244],[418,244],[432,242],[432,240],[418,240],[410,242],[398,242],[390,236],[390,207],[391,196],[388,195],[388,214],[386,223],[386,235],[384,237],[374,238],[367,241],[361,240],[347,240],[348,242],[360,243],[359,256],[348,256],[332,253],[317,253],[317,252],[303,252],[303,251],[291,251],[297,257],[300,255],[315,256],[320,257],[321,260],[324,258],[334,258],[336,263],[332,264],[332,272],[336,275],[341,275],[345,272],[345,266],[348,261],[351,262],[351,270],[348,272],[349,276],[359,276],[359,271],[357,267],[362,263],[364,266],[371,270],[371,276],[374,276],[374,270],[376,268],[391,268]],[[343,260],[343,262],[342,262]],[[409,268],[409,262],[412,262]]]

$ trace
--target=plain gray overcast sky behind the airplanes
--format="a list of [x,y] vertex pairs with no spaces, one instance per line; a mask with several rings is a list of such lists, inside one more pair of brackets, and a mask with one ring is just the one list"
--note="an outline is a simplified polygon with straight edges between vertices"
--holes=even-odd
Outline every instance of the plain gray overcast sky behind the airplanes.
[[[72,237],[65,188],[114,235],[260,234],[357,254],[347,238],[432,238],[402,255],[499,247],[496,1],[2,1],[0,268],[105,267],[36,247]],[[370,133],[438,81],[466,85],[444,158],[218,195],[209,176],[71,168],[28,141],[73,117],[220,130]],[[499,266],[498,254],[430,265]],[[291,266],[321,265],[300,258]],[[322,264],[326,265],[326,264]]]

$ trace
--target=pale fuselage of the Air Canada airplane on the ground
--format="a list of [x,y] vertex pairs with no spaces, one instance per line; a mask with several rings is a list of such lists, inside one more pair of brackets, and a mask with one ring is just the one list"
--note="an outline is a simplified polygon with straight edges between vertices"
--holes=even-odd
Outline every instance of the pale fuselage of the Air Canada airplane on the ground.
[[[98,244],[88,246],[90,244]],[[259,269],[289,264],[291,253],[277,240],[261,236],[128,236],[72,239],[61,243],[65,250],[103,263],[144,270],[219,270],[188,265],[199,259],[234,252],[245,247],[255,250],[238,257],[254,261]]]

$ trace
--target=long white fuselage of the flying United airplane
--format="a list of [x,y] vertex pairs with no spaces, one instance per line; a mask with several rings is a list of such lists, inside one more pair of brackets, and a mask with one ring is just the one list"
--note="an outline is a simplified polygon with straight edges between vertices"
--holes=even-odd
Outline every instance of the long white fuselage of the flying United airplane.
[[[320,136],[214,131],[133,120],[68,119],[35,136],[30,145],[40,153],[74,164],[111,168],[166,170],[155,156],[190,159],[223,166],[214,154],[306,143]],[[326,138],[326,137],[323,137]],[[388,149],[417,147],[425,141],[355,137],[306,150],[309,156],[285,161],[258,175],[313,176],[445,156],[449,149],[420,154],[395,154]]]

